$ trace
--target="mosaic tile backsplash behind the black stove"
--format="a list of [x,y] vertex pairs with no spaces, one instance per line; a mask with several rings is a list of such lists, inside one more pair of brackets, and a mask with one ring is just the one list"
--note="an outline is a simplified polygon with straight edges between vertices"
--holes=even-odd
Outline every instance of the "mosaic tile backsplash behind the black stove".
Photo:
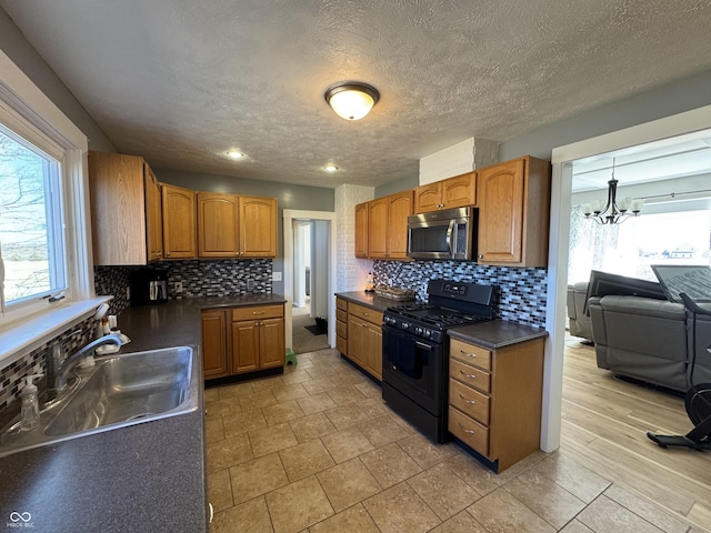
[[497,315],[535,328],[545,324],[547,269],[490,266],[472,261],[375,261],[373,281],[412,289],[427,299],[432,279],[470,281],[497,288]]

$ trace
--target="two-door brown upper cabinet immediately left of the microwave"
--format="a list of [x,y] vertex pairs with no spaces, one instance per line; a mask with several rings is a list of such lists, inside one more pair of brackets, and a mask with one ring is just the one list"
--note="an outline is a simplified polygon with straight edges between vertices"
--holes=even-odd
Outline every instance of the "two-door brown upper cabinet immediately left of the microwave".
[[[368,202],[368,257],[407,259],[408,217],[411,214],[412,190]],[[358,224],[356,240],[358,241]]]

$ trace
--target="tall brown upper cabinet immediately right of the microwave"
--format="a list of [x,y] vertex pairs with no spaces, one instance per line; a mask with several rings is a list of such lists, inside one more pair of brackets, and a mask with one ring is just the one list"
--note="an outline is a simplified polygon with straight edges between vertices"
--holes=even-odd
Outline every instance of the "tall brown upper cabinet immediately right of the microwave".
[[479,262],[545,266],[550,162],[527,155],[480,170],[478,181]]

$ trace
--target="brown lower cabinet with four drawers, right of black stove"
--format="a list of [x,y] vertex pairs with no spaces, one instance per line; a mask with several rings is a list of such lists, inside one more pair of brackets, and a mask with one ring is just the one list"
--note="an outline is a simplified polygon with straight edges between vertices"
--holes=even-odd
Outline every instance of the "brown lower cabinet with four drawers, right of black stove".
[[544,342],[488,350],[451,340],[449,431],[497,472],[540,446]]

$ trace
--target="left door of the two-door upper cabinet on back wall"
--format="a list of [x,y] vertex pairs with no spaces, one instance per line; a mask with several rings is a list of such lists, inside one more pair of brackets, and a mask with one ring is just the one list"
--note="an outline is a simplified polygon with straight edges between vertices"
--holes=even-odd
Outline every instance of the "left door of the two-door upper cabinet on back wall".
[[234,194],[198,193],[198,254],[236,258],[238,200]]

